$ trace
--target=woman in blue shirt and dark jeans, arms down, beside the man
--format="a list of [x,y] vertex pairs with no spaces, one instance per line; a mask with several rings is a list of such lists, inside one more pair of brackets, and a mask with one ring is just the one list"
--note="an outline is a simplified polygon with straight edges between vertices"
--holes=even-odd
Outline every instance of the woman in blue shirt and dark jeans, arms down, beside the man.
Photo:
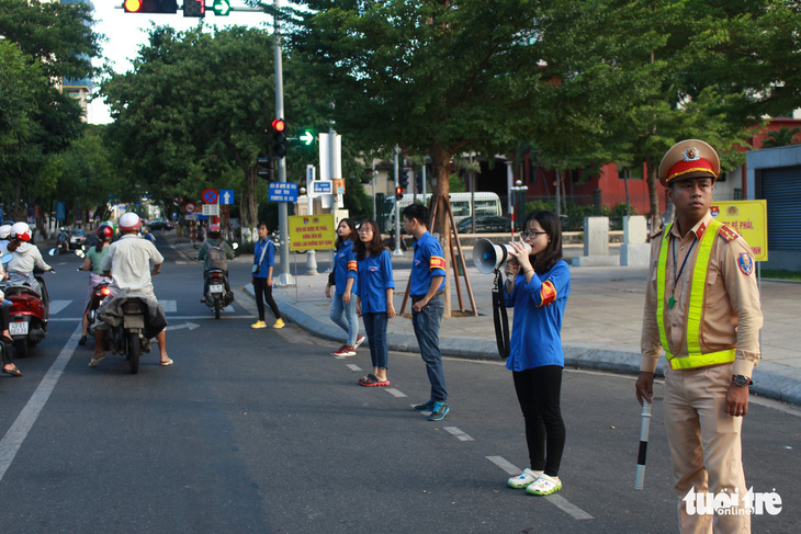
[[392,280],[392,259],[381,239],[381,230],[375,220],[365,220],[359,226],[359,241],[354,245],[359,275],[354,293],[356,311],[364,321],[370,344],[370,359],[373,373],[361,378],[359,384],[366,387],[388,386],[386,364],[390,356],[386,346],[386,325],[395,317],[392,294],[395,282]]

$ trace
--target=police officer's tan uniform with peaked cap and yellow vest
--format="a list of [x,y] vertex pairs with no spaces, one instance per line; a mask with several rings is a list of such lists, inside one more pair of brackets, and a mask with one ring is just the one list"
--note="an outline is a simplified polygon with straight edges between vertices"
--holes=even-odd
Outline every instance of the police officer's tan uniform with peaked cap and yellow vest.
[[[707,149],[711,164],[699,158]],[[717,178],[717,158],[703,141],[681,141],[663,159],[659,179],[667,185],[706,166]],[[745,240],[709,213],[684,238],[677,220],[652,241],[640,370],[653,373],[665,349],[665,427],[685,533],[711,533],[713,524],[714,532],[751,532],[748,515],[689,515],[681,499],[693,488],[746,493],[743,418],[727,414],[725,402],[733,375],[751,377],[759,361],[763,316],[754,271]]]

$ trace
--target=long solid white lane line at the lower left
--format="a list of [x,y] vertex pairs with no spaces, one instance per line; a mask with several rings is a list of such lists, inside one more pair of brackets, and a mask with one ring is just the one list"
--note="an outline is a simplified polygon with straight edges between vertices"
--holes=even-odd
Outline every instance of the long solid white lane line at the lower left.
[[11,425],[9,431],[5,432],[5,436],[3,436],[2,441],[0,441],[0,480],[2,480],[5,471],[11,466],[11,462],[14,461],[16,452],[20,450],[20,446],[22,446],[22,442],[25,441],[25,438],[31,431],[33,424],[36,422],[36,419],[38,419],[42,408],[44,408],[47,399],[50,398],[50,394],[56,387],[58,378],[61,377],[64,368],[67,366],[67,363],[69,363],[69,359],[72,357],[76,346],[78,346],[80,332],[81,326],[78,325],[75,332],[72,332],[72,336],[64,345],[64,349],[61,349],[58,357],[56,357],[56,361],[53,362],[50,368],[47,370],[47,374],[45,374],[44,378],[42,378],[42,382],[40,382],[36,390],[33,393],[14,423]]

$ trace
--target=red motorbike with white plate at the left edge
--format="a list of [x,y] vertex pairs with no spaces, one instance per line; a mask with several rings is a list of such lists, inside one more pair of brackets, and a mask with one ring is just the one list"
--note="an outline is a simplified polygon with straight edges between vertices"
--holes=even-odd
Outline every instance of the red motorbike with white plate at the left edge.
[[2,284],[5,298],[11,302],[9,333],[14,340],[16,357],[26,357],[30,349],[44,341],[47,336],[49,298],[41,274],[42,271],[34,271],[34,276],[42,288],[41,294],[26,284],[12,282]]

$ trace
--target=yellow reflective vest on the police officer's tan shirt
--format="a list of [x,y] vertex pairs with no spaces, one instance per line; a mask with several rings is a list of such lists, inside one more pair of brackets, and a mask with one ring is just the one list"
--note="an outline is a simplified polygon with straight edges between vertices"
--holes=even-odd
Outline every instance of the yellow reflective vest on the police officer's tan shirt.
[[[676,357],[670,352],[670,345],[667,342],[667,333],[665,323],[667,317],[665,314],[665,272],[667,268],[668,245],[670,242],[670,224],[663,232],[662,246],[659,247],[659,261],[656,269],[656,322],[659,326],[659,341],[665,350],[667,361],[670,363],[672,370],[707,367],[710,365],[720,365],[734,361],[735,349],[726,349],[717,352],[701,352],[701,319],[703,318],[703,293],[707,287],[707,273],[709,272],[709,262],[712,257],[712,245],[714,243],[718,232],[723,226],[717,220],[711,220],[709,227],[703,232],[698,243],[698,255],[696,264],[692,269],[692,282],[690,284],[690,298],[687,307],[687,331],[685,339],[687,340],[687,356]],[[675,269],[675,266],[674,266]]]

